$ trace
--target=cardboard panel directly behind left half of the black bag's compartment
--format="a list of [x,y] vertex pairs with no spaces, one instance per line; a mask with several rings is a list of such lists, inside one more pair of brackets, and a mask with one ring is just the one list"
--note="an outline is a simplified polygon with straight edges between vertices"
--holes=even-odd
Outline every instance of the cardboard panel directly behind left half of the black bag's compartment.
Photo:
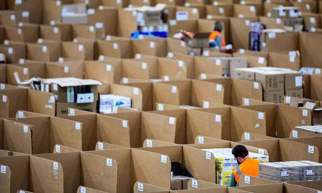
[[170,143],[185,144],[186,110],[142,112],[142,142],[155,139]]

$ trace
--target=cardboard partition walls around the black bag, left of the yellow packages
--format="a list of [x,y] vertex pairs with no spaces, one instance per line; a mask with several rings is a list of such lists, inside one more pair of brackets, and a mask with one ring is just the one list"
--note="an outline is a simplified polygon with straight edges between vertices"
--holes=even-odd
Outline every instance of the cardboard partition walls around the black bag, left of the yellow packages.
[[171,162],[180,162],[197,179],[215,181],[214,157],[207,159],[206,152],[197,148],[177,145],[132,149],[131,160],[132,185],[140,181],[169,189]]

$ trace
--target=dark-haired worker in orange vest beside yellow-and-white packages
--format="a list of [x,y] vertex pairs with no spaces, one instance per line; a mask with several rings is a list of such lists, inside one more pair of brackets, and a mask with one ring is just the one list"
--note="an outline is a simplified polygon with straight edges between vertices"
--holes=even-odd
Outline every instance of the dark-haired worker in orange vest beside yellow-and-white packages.
[[239,177],[241,174],[258,176],[259,164],[264,163],[264,160],[253,159],[249,156],[248,150],[244,145],[236,145],[231,153],[236,158],[238,165],[233,169],[229,186],[238,186]]

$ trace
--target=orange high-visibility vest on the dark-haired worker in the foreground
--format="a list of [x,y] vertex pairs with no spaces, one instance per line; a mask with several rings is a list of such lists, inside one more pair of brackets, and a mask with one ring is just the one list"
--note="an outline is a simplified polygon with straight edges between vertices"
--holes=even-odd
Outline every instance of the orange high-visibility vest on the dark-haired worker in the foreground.
[[238,184],[239,183],[239,176],[241,174],[246,175],[252,175],[252,176],[258,176],[260,173],[259,163],[264,163],[263,160],[253,159],[253,158],[247,158],[243,163],[240,165],[237,165],[235,168],[233,168],[233,175],[235,177],[235,181]]

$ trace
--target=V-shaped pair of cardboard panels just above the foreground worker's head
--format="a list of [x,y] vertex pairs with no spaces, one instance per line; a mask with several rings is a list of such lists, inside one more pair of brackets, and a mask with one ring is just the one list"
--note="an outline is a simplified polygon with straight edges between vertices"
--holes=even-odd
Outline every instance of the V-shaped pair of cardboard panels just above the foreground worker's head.
[[198,135],[239,141],[243,132],[266,135],[265,113],[236,107],[187,111],[188,143]]

